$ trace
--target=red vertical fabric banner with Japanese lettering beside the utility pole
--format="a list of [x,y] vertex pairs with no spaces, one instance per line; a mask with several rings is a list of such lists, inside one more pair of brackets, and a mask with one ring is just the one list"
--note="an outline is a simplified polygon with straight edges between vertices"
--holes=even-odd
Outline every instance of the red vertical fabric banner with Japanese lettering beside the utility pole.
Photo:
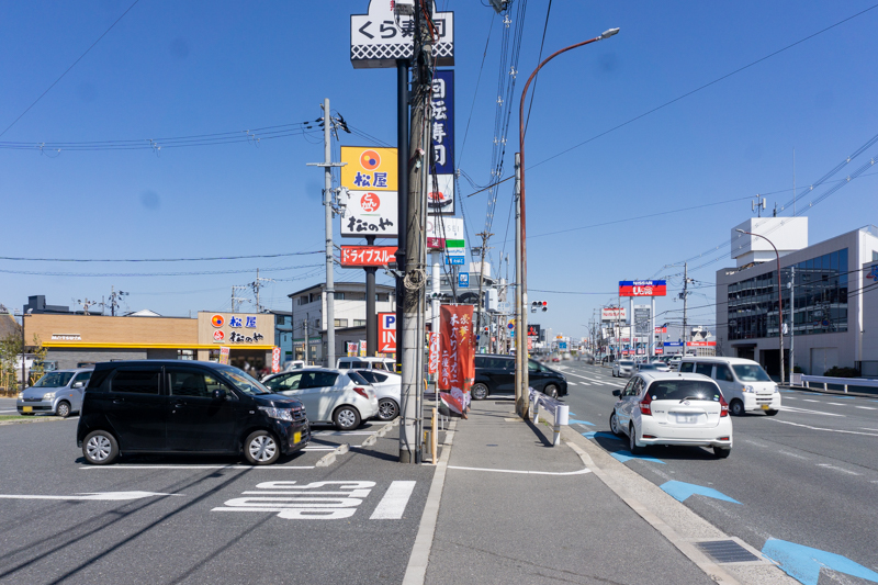
[[475,378],[473,306],[442,305],[439,333],[439,390],[469,392]]

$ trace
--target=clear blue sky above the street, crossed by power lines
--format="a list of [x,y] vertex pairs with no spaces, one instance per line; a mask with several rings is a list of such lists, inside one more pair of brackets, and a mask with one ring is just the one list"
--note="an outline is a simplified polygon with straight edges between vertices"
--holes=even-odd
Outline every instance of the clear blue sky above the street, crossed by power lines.
[[[513,4],[511,19],[517,18],[520,2]],[[0,132],[131,3],[0,5]],[[476,1],[438,3],[455,13],[457,165],[475,182],[487,183],[498,76],[505,75],[499,72],[502,18]],[[365,0],[139,0],[0,143],[125,139],[148,145],[149,138],[314,121],[325,97],[351,126],[395,143],[395,71],[354,70],[349,60],[349,14],[364,13],[367,5]],[[548,0],[527,3],[516,102],[538,63],[547,5]],[[543,69],[528,132],[528,166],[871,5],[870,0],[554,0],[544,56],[612,26],[621,32],[565,54]],[[874,105],[878,77],[870,57],[878,48],[877,27],[875,9],[531,168],[527,172],[530,289],[608,293],[531,292],[531,300],[550,302],[550,311],[540,315],[543,327],[585,335],[579,324],[607,303],[619,280],[674,274],[661,268],[725,243],[729,229],[751,216],[745,198],[770,193],[769,209],[775,202],[783,205],[791,199],[793,148],[797,184],[803,187],[873,137],[878,128]],[[507,173],[517,132],[514,114]],[[345,135],[341,144],[368,142]],[[316,251],[323,243],[323,178],[305,164],[322,158],[319,135],[258,145],[165,148],[159,154],[149,148],[59,154],[0,149],[4,211],[0,256],[136,259]],[[876,223],[876,185],[877,178],[866,173],[813,207],[807,214],[811,243]],[[466,181],[461,187],[462,195],[475,190]],[[511,181],[498,188],[497,195],[494,258],[506,239]],[[807,204],[809,195],[802,196]],[[734,199],[740,201],[687,210]],[[484,227],[486,203],[486,193],[465,199],[471,235]],[[781,215],[789,213],[785,210]],[[510,227],[508,238],[513,235]],[[505,246],[511,251],[510,240]],[[693,265],[723,251],[728,248]],[[74,304],[74,299],[109,295],[115,285],[131,292],[126,299],[131,310],[151,308],[165,315],[228,310],[232,285],[252,281],[258,267],[262,275],[278,279],[263,290],[263,303],[289,308],[286,294],[323,281],[319,267],[313,266],[320,259],[305,255],[162,263],[0,260],[0,270],[33,272],[247,271],[175,277],[0,272],[0,302],[21,307],[27,295],[45,294],[52,304]],[[712,284],[714,271],[732,263],[724,258],[690,275]],[[279,270],[288,267],[301,268]],[[336,278],[362,279],[362,272],[339,269]],[[679,278],[672,278],[669,289],[678,290],[679,283]],[[710,304],[712,290],[698,290],[691,299],[693,305]],[[658,302],[658,311],[678,305],[668,297]],[[713,314],[712,308],[695,311],[689,320],[710,324]]]

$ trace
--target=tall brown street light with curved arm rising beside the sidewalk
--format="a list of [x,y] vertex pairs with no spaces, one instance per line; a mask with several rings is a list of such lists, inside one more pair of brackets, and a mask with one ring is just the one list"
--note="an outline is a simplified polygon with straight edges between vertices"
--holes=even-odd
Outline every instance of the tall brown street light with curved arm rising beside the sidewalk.
[[[526,326],[527,325],[527,291],[528,291],[528,256],[527,256],[527,245],[526,245],[526,226],[527,222],[525,221],[525,98],[528,94],[528,88],[530,87],[530,82],[533,81],[533,78],[542,69],[542,67],[549,63],[550,60],[554,59],[562,53],[566,53],[576,47],[581,47],[584,45],[588,45],[590,43],[595,43],[597,41],[604,41],[605,38],[609,38],[619,32],[619,29],[609,29],[604,31],[599,36],[594,38],[589,38],[588,41],[583,41],[582,43],[576,43],[575,45],[571,45],[569,47],[564,47],[560,50],[556,50],[545,57],[540,65],[533,69],[533,72],[530,74],[528,78],[528,82],[525,83],[525,89],[521,91],[521,102],[518,106],[518,151],[519,151],[519,168],[520,168],[520,180],[519,180],[519,198],[518,198],[518,215],[520,217],[520,241],[518,243],[518,254],[521,260],[521,274],[516,274],[516,280],[518,281],[516,284],[518,285],[518,290],[521,291],[521,294],[518,295],[519,299],[519,315],[521,317],[520,324],[516,324],[517,327]],[[518,397],[521,396],[522,401],[520,403],[519,415],[527,416],[527,407],[528,407],[528,370],[527,370],[527,341],[524,336],[516,336],[518,341],[516,347],[516,359],[521,360],[518,362],[518,368],[516,368],[516,372],[520,372],[520,375],[516,376],[516,387],[519,390],[520,394],[516,392],[516,403],[518,403]]]

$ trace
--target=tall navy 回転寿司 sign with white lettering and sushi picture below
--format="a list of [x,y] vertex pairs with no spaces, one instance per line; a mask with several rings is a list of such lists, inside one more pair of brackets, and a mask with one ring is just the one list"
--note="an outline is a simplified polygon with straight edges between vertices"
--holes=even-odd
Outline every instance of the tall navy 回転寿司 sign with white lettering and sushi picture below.
[[454,71],[441,69],[432,79],[430,139],[436,182],[430,178],[430,212],[454,214]]

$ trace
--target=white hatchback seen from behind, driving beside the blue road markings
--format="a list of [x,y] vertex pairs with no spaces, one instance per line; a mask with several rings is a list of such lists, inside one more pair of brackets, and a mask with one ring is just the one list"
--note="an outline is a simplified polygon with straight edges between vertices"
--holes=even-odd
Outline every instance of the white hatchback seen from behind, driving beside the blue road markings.
[[643,372],[623,390],[610,415],[610,430],[628,436],[632,454],[650,445],[712,447],[732,452],[732,419],[717,383],[701,374]]

